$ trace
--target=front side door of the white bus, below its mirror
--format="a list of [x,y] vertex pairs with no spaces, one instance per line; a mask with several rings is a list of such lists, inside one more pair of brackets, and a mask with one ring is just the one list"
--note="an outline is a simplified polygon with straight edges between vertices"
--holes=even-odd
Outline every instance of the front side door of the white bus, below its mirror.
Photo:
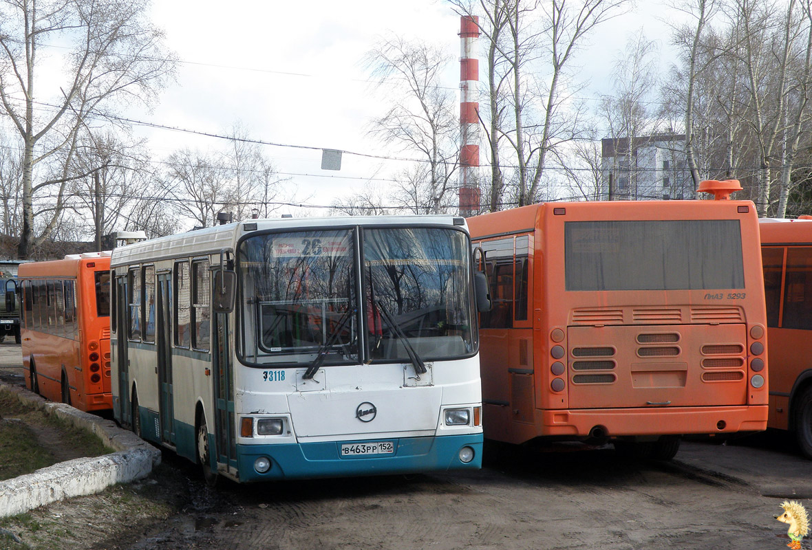
[[231,372],[231,347],[228,341],[228,314],[213,313],[214,353],[214,439],[217,442],[217,462],[236,472],[237,448],[234,424],[234,387]]

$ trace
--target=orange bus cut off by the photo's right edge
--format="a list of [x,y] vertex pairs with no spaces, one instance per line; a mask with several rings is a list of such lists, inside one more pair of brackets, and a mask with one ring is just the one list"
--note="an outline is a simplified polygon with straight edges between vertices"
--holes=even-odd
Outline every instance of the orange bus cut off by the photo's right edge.
[[812,219],[761,220],[770,372],[769,428],[812,458]]

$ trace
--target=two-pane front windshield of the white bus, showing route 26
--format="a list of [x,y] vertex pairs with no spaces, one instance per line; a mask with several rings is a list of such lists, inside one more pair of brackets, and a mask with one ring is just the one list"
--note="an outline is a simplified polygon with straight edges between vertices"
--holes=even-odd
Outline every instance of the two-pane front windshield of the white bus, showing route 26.
[[[464,232],[443,228],[246,238],[238,250],[241,354],[249,364],[303,366],[317,357],[330,365],[471,354],[468,250]],[[363,303],[356,292],[359,257]]]

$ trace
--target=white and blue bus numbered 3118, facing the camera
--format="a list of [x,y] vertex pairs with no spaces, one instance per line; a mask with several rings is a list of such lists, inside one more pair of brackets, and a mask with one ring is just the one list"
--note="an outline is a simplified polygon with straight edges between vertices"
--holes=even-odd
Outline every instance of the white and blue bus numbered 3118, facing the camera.
[[463,218],[243,221],[110,269],[114,417],[209,483],[481,467]]

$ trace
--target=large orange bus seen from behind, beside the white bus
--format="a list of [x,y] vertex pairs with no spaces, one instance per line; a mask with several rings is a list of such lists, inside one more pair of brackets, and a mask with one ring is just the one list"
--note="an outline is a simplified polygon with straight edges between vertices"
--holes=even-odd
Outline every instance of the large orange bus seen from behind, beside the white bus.
[[469,218],[489,273],[485,436],[612,442],[761,431],[758,218],[736,200],[533,204]]

